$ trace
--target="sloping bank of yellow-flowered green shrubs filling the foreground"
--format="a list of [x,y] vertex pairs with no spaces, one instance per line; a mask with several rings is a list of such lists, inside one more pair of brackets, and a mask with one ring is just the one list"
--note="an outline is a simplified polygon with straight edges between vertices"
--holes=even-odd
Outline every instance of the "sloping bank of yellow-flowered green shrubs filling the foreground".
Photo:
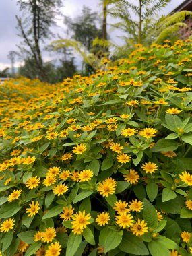
[[191,56],[137,45],[2,104],[1,255],[192,253]]

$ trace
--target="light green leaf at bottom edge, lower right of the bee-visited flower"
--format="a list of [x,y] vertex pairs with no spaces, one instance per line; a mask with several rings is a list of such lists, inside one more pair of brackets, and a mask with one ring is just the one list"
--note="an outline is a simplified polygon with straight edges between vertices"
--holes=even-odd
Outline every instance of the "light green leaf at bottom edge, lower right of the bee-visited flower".
[[159,243],[158,240],[153,240],[148,243],[148,248],[152,256],[170,256],[170,251],[161,243]]

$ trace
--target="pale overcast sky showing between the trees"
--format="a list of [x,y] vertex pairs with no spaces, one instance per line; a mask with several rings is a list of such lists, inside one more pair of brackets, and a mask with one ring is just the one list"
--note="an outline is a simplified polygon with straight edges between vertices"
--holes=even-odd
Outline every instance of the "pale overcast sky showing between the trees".
[[[135,0],[134,0],[135,1]],[[17,44],[20,44],[21,38],[18,36],[18,30],[16,29],[15,15],[20,15],[16,0],[0,0],[0,70],[5,67],[10,67],[10,61],[7,59],[9,51],[17,50]],[[183,0],[172,0],[161,14],[168,14],[175,7],[180,5]],[[76,17],[81,13],[82,6],[86,5],[91,7],[93,11],[101,13],[101,7],[99,5],[100,0],[63,0],[63,7],[61,12],[64,15],[68,15],[71,18]],[[109,23],[112,22],[109,20]],[[61,28],[57,28],[57,32],[64,36],[63,30],[65,26],[63,20],[59,21]],[[117,38],[117,32],[110,34],[113,42],[119,42]],[[49,59],[49,56],[44,56],[45,59]],[[17,63],[16,63],[17,64]]]

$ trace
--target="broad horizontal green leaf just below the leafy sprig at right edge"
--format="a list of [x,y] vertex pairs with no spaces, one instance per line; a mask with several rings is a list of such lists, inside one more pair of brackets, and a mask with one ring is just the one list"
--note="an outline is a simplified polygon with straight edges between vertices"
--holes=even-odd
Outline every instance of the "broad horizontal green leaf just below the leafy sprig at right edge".
[[160,151],[174,151],[179,147],[179,143],[175,141],[169,141],[168,139],[159,139],[155,146],[150,150],[151,152]]

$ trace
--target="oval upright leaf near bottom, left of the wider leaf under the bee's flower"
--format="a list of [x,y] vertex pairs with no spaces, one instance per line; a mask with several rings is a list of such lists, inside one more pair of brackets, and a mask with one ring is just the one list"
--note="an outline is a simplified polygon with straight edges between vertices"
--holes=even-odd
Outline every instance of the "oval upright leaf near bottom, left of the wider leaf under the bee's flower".
[[121,243],[122,235],[117,230],[108,230],[108,234],[104,241],[104,252],[115,249]]

